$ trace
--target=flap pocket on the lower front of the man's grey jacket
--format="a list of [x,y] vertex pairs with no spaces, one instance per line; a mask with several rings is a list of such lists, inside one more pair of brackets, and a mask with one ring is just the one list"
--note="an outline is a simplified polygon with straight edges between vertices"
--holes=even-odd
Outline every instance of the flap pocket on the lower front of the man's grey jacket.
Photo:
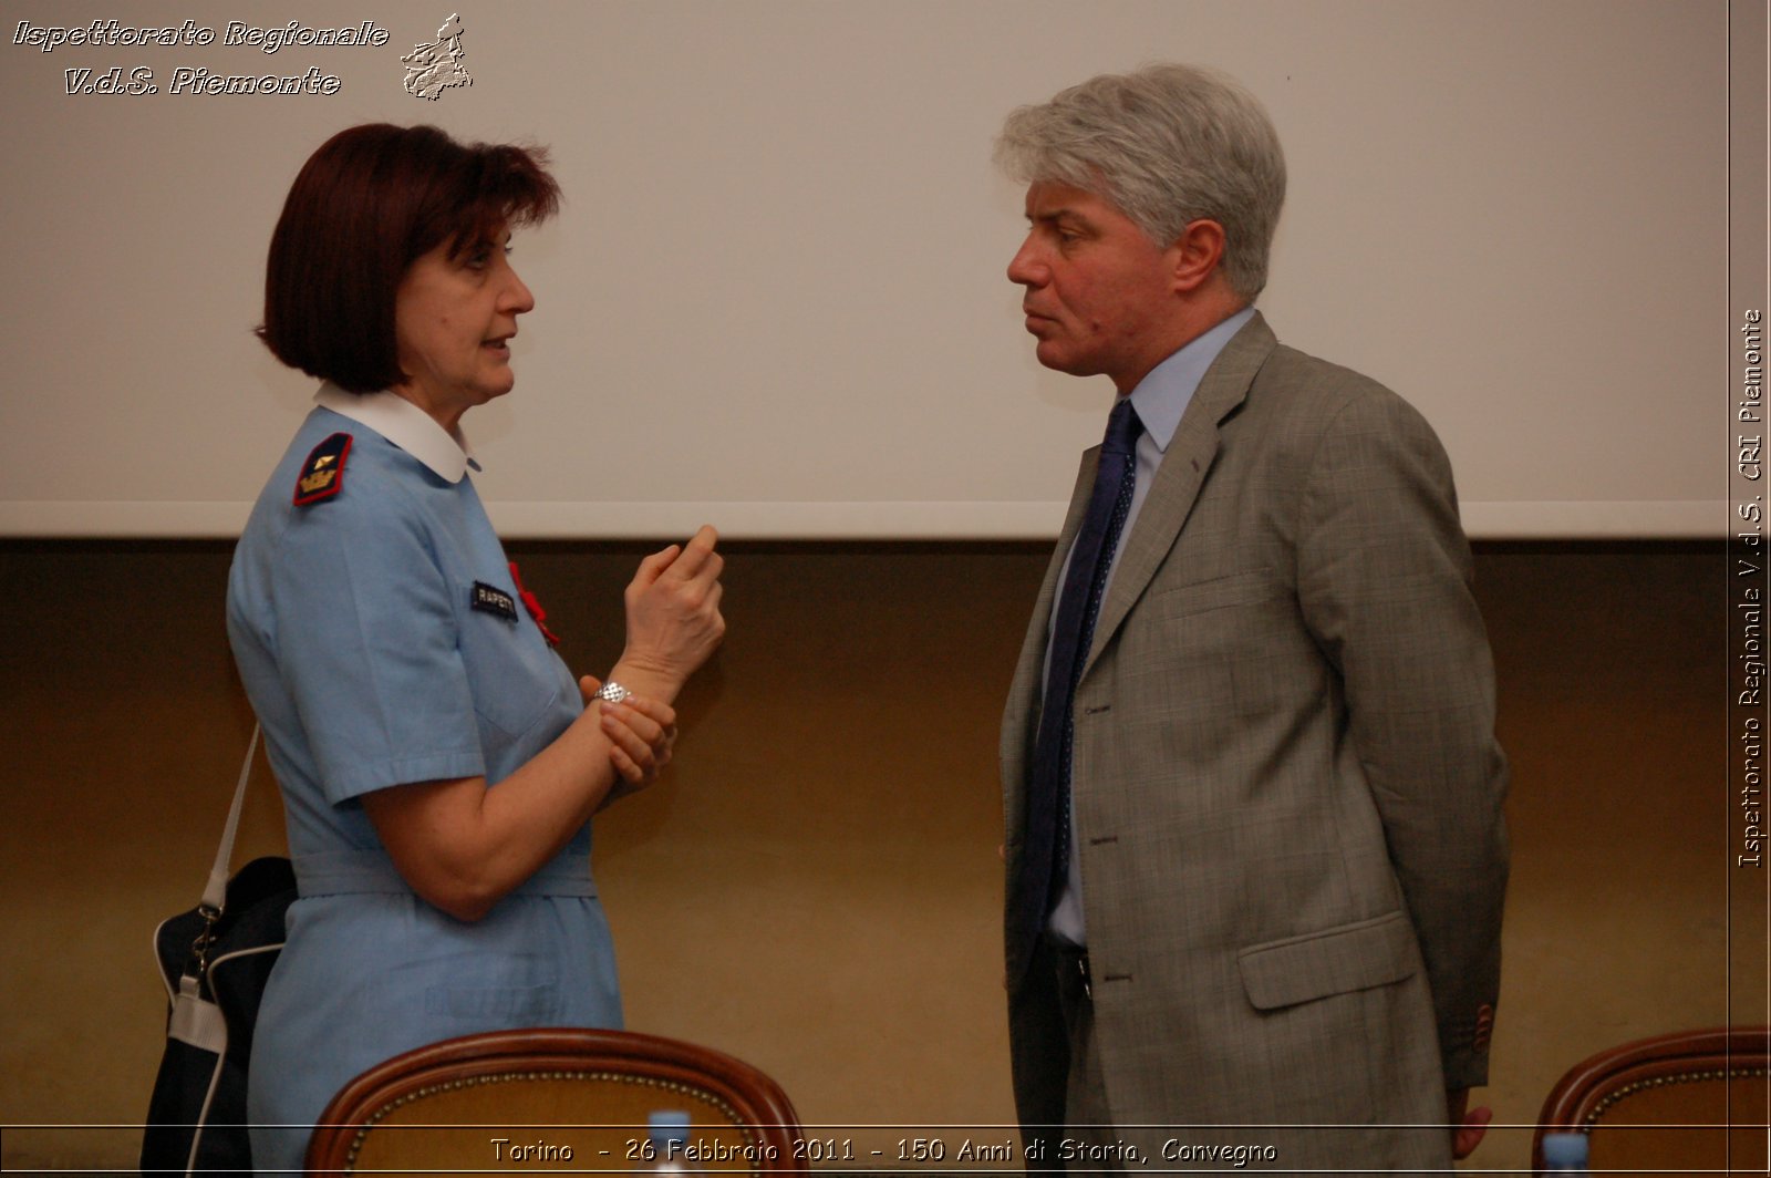
[[1413,976],[1415,962],[1413,928],[1401,912],[1250,944],[1236,955],[1256,1010],[1401,981]]

